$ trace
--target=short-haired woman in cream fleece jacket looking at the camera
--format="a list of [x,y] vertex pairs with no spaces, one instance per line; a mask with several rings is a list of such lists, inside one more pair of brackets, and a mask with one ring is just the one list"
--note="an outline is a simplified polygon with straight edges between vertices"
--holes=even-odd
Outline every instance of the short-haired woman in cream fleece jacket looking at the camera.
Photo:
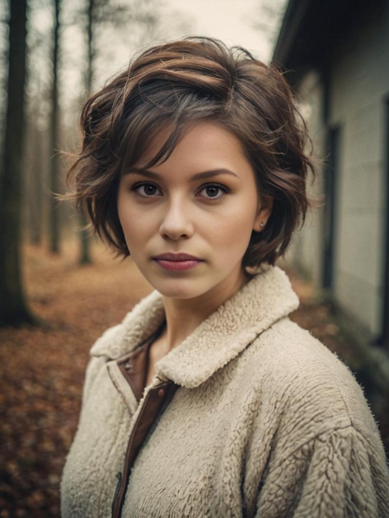
[[274,266],[313,171],[282,75],[187,38],[81,122],[72,196],[154,291],[91,349],[63,518],[389,516],[363,392]]

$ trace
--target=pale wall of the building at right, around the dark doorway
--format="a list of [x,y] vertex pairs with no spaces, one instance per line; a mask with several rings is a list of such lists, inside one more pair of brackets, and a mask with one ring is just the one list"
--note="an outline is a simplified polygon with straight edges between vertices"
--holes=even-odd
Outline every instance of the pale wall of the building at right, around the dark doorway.
[[[324,84],[307,75],[299,90],[311,105],[311,127],[323,146],[324,132],[340,128],[336,177],[332,297],[373,336],[381,332],[387,214],[389,10],[355,26],[336,49],[329,69],[327,128],[319,117]],[[321,147],[321,149],[324,149]],[[321,282],[322,213],[296,236],[289,255]]]

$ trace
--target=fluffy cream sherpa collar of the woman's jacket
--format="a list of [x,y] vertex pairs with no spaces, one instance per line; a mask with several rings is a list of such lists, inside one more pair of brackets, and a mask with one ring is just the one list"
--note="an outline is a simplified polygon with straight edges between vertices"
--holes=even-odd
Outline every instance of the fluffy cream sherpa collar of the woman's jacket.
[[[253,279],[155,364],[157,375],[196,387],[298,306],[299,299],[285,272],[277,266],[262,266]],[[130,353],[164,318],[162,296],[155,290],[134,306],[121,324],[108,329],[91,354],[117,359]]]

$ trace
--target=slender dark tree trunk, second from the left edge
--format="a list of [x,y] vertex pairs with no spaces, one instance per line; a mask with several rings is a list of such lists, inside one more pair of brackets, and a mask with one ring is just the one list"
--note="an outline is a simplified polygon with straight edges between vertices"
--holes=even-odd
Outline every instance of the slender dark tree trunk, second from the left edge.
[[[52,193],[58,193],[60,161],[58,155],[59,125],[58,125],[58,61],[59,61],[59,28],[60,28],[60,0],[54,0],[54,43],[53,43],[53,68],[51,87],[51,161],[50,161],[50,189]],[[51,196],[50,199],[50,251],[60,251],[58,202]]]

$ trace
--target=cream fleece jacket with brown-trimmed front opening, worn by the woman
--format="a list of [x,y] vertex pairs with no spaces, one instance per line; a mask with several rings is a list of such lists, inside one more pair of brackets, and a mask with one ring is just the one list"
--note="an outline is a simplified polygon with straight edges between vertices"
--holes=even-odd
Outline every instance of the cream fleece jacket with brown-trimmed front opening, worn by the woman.
[[178,384],[138,453],[123,518],[388,518],[389,473],[352,372],[288,314],[285,272],[256,276],[155,365],[139,404],[117,359],[164,319],[154,291],[91,349],[61,481],[63,518],[111,515],[150,387]]

